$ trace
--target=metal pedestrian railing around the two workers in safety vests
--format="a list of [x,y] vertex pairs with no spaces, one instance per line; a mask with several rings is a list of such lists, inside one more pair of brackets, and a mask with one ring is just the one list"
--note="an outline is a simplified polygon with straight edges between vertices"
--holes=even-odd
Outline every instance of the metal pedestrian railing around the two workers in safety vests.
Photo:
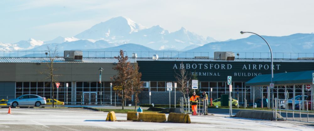
[[[197,102],[197,114],[198,115],[207,115],[208,114],[208,100],[199,99]],[[191,113],[192,108],[190,105],[189,98],[180,98],[180,111],[181,113]]]

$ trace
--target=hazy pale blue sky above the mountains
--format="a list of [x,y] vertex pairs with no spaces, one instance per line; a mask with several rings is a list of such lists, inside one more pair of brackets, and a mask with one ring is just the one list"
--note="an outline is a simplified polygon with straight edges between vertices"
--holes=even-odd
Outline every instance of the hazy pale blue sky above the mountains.
[[2,0],[0,42],[72,37],[112,17],[217,40],[314,32],[314,0]]

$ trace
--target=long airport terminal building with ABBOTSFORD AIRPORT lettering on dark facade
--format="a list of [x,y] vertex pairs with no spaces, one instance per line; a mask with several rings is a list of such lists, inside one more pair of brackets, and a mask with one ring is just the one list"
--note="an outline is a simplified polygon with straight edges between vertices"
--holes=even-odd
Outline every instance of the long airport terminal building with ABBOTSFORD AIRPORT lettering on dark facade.
[[[58,99],[73,105],[97,105],[102,102],[106,104],[120,102],[115,91],[110,87],[111,77],[117,74],[112,69],[118,62],[114,58],[78,57],[80,60],[67,60],[56,58],[54,60],[54,74],[56,80],[61,83],[58,88]],[[175,74],[181,68],[191,74],[197,74],[199,91],[211,94],[213,100],[220,98],[220,94],[229,94],[227,87],[227,76],[232,76],[233,98],[239,97],[239,103],[244,99],[252,101],[255,98],[265,96],[267,88],[255,88],[245,86],[252,78],[270,74],[270,59],[215,59],[207,57],[194,58],[139,58],[130,57],[131,63],[138,63],[139,71],[142,73],[143,91],[139,96],[141,104],[149,104],[149,91],[151,92],[151,103],[169,104],[169,92],[166,91],[167,82],[176,82]],[[274,59],[274,73],[312,71],[314,70],[313,59]],[[2,57],[0,58],[0,99],[12,99],[23,94],[37,94],[42,97],[52,98],[51,83],[47,72],[49,58],[35,57]],[[99,68],[102,71],[102,86],[99,83]],[[65,87],[68,83],[68,88]],[[212,88],[212,92],[210,89]],[[258,91],[259,90],[259,91]],[[264,91],[265,90],[265,91]],[[282,89],[277,89],[284,93]],[[57,89],[55,88],[55,98]],[[301,93],[296,90],[296,94]],[[304,92],[304,91],[303,91]],[[174,100],[174,89],[171,92],[171,101]],[[281,95],[281,94],[280,94]],[[68,97],[67,97],[68,96]],[[176,92],[176,100],[182,97]],[[278,96],[279,97],[279,96]],[[174,101],[172,101],[174,102]],[[171,104],[174,104],[172,103]]]

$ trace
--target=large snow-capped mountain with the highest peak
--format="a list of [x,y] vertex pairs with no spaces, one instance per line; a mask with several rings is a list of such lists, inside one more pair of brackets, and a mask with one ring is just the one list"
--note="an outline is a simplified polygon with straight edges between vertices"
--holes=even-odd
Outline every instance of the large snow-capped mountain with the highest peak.
[[115,17],[101,22],[75,37],[80,39],[103,39],[110,43],[137,43],[155,50],[181,50],[190,45],[203,45],[216,42],[214,38],[204,38],[184,27],[169,32],[159,25],[146,28],[126,17]]

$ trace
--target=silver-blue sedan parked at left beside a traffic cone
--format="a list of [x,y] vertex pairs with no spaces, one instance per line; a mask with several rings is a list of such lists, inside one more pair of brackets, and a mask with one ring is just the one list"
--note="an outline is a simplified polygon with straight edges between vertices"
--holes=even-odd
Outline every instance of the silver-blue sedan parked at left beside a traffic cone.
[[46,104],[46,98],[35,94],[24,94],[16,99],[8,100],[7,105],[16,107],[18,105],[35,105],[41,106]]

